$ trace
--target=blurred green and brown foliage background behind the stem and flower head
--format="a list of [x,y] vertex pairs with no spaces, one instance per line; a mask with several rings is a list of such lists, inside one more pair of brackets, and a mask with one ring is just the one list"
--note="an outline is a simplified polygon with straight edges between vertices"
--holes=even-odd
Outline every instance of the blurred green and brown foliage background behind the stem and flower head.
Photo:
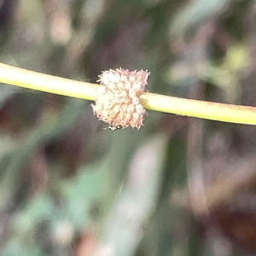
[[[0,60],[92,82],[148,69],[151,92],[256,105],[255,4],[2,0]],[[253,126],[106,126],[90,102],[1,84],[1,255],[255,253]]]

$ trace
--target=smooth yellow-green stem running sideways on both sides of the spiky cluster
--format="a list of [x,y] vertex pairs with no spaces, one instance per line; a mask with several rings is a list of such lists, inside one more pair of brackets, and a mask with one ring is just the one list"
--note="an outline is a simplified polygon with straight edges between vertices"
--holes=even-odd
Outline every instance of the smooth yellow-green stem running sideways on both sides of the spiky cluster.
[[[90,84],[36,73],[2,63],[0,63],[0,82],[90,101],[95,100],[96,90],[101,86],[99,84]],[[201,119],[256,125],[256,108],[254,107],[218,102],[203,102],[148,92],[143,93],[141,99],[145,108],[155,111],[181,114]]]

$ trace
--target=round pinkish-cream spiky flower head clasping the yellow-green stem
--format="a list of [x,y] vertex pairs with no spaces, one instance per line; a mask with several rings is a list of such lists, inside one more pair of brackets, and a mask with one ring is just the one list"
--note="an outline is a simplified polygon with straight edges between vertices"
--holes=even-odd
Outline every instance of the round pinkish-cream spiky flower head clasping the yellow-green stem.
[[91,105],[97,118],[113,127],[139,129],[146,113],[140,96],[148,84],[148,75],[148,71],[121,67],[102,72],[98,81],[104,86],[98,91],[96,104]]

